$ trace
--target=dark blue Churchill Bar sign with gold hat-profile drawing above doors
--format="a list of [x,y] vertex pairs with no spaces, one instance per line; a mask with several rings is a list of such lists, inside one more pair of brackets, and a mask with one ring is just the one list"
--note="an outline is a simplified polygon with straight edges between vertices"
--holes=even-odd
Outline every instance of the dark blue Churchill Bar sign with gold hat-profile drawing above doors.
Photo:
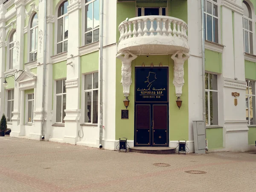
[[135,102],[168,102],[168,67],[135,67]]

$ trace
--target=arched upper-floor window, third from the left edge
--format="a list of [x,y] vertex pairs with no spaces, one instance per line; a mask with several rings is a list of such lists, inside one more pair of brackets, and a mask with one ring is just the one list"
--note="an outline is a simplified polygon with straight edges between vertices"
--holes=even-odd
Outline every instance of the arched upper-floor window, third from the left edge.
[[68,1],[61,3],[58,8],[58,34],[57,34],[57,54],[67,51],[68,38]]

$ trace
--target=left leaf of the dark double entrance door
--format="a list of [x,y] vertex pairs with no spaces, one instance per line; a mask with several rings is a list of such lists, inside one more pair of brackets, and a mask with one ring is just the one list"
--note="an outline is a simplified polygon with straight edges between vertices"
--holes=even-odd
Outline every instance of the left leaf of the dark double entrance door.
[[135,140],[136,145],[150,145],[150,105],[136,105]]

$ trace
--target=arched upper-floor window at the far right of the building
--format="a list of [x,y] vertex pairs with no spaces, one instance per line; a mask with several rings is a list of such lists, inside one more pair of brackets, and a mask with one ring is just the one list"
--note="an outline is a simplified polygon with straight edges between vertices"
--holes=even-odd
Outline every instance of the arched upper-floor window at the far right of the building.
[[253,54],[253,19],[249,4],[243,1],[243,31],[244,31],[244,52]]

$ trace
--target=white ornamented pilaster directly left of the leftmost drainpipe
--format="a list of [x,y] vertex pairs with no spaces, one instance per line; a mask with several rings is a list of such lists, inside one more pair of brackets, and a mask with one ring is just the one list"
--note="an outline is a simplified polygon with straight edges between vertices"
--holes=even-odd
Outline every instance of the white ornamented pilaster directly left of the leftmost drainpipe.
[[38,3],[38,52],[37,52],[37,84],[35,89],[34,131],[29,139],[41,140],[43,129],[43,83],[44,83],[44,10],[46,0]]

